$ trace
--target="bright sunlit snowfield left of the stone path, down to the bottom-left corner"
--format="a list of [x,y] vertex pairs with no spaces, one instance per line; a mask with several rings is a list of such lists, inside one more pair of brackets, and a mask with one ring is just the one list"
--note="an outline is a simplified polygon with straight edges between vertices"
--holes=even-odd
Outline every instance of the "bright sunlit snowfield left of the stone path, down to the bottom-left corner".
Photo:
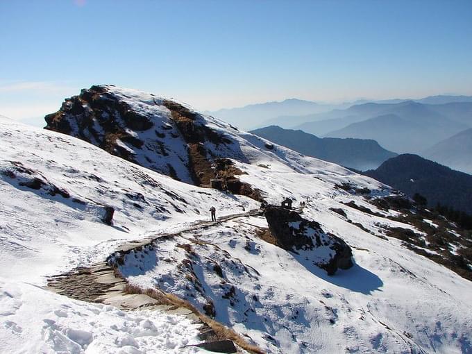
[[[125,314],[71,301],[41,286],[47,276],[104,260],[126,239],[208,220],[206,210],[216,201],[221,215],[256,203],[179,183],[81,140],[7,119],[0,120],[0,142],[0,352],[182,353],[185,342],[198,342],[185,317]],[[70,197],[51,196],[48,186],[19,185],[28,174],[12,162]],[[115,208],[112,226],[101,221],[101,205]]]

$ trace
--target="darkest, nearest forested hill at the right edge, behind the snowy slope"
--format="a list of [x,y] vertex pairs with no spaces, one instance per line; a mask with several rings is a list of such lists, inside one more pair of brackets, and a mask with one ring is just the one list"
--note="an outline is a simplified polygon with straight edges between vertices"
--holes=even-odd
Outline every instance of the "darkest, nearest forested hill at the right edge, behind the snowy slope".
[[419,193],[428,199],[430,206],[441,203],[472,214],[472,176],[437,162],[403,154],[364,174],[409,196]]

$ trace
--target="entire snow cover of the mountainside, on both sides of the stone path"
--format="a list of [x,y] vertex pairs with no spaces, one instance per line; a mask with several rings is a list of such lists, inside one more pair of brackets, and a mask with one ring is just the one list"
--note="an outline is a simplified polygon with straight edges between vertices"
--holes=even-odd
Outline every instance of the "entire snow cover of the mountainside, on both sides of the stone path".
[[[472,314],[467,309],[472,305],[472,283],[387,236],[389,228],[401,227],[426,237],[416,226],[402,222],[401,212],[380,210],[366,198],[391,194],[387,186],[198,115],[197,125],[224,137],[219,144],[208,140],[208,135],[196,142],[205,147],[210,163],[217,157],[233,159],[234,167],[242,172],[237,178],[259,189],[269,203],[278,204],[285,197],[295,199],[297,205],[308,201],[303,217],[344,239],[352,248],[355,264],[328,276],[309,262],[309,255],[285,251],[264,237],[264,217],[238,217],[185,231],[195,221],[208,219],[212,205],[220,217],[258,208],[259,203],[159,174],[162,167],[161,172],[171,175],[169,164],[178,179],[195,183],[188,165],[192,155],[187,151],[194,143],[176,126],[175,110],[167,107],[175,106],[160,106],[155,102],[163,99],[133,90],[107,90],[115,99],[124,97],[128,107],[137,108],[140,117],[147,117],[154,127],[172,127],[168,130],[174,136],[153,133],[167,155],[144,149],[155,138],[143,137],[146,130],[131,129],[129,123],[123,123],[120,134],[137,135],[144,142],[136,144],[139,149],[121,140],[108,142],[122,144],[130,153],[123,156],[118,149],[115,154],[133,162],[110,155],[103,150],[110,146],[100,142],[96,145],[103,149],[67,135],[0,121],[1,294],[2,303],[12,303],[0,307],[0,333],[6,338],[1,351],[21,352],[26,344],[44,346],[45,352],[67,351],[58,344],[65,342],[76,353],[96,353],[99,349],[90,348],[103,348],[112,341],[152,353],[153,341],[162,337],[160,328],[169,322],[176,323],[167,327],[169,349],[162,344],[155,351],[178,351],[182,344],[194,341],[194,328],[184,330],[183,318],[150,315],[156,329],[146,332],[150,325],[142,323],[143,314],[122,314],[37,287],[44,285],[47,276],[104,260],[126,240],[183,230],[176,237],[154,242],[152,248],[120,255],[124,262],[119,271],[132,284],[159,287],[203,312],[213,309],[214,319],[267,352],[471,352]],[[97,119],[95,113],[92,116],[88,123]],[[121,117],[119,113],[114,119]],[[87,140],[85,131],[81,128],[83,140]],[[169,147],[174,143],[178,147]],[[353,189],[343,188],[348,184]],[[356,188],[359,192],[354,192]],[[346,205],[349,202],[357,207]],[[110,207],[114,214],[108,225]],[[26,311],[31,315],[27,321],[20,310],[37,303],[42,310]],[[212,308],[206,306],[209,303]],[[69,317],[56,313],[62,307],[69,309],[64,310]],[[112,331],[102,332],[111,322],[116,323]],[[89,334],[77,334],[78,328]],[[142,333],[149,337],[127,342]],[[121,337],[126,339],[120,342]]]

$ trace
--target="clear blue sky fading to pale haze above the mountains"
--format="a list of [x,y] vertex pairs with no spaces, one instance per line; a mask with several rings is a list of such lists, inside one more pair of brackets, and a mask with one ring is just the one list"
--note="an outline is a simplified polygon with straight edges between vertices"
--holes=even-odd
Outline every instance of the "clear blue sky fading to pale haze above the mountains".
[[0,0],[0,114],[97,83],[199,110],[472,95],[472,0]]

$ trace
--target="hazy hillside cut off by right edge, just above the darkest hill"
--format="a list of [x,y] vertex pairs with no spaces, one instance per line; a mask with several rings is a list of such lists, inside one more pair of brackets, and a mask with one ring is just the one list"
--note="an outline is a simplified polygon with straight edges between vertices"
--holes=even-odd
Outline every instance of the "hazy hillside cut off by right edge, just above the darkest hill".
[[422,154],[458,171],[472,174],[472,128],[442,140]]

